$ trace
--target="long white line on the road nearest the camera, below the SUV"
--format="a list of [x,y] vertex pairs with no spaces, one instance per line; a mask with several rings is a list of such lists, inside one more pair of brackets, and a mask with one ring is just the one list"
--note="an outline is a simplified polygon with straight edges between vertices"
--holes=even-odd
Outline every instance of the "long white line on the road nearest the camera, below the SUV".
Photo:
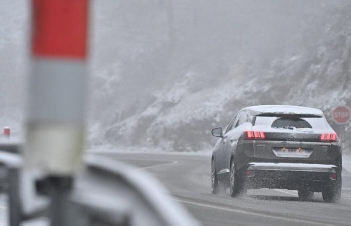
[[249,212],[249,211],[240,210],[240,209],[230,209],[230,208],[226,208],[226,207],[220,207],[220,206],[214,206],[214,205],[208,205],[208,204],[200,204],[200,203],[191,202],[191,201],[184,201],[184,200],[180,200],[180,199],[173,199],[173,200],[187,203],[187,204],[191,204],[191,205],[203,206],[203,207],[207,207],[207,208],[219,209],[219,210],[235,212],[235,213],[243,213],[243,214],[254,215],[254,216],[259,216],[259,217],[268,217],[268,218],[273,218],[273,219],[278,219],[278,220],[293,221],[293,222],[299,222],[299,223],[305,223],[305,224],[311,224],[311,225],[323,225],[323,226],[334,225],[334,224],[319,223],[319,222],[308,221],[308,220],[292,219],[292,218],[287,218],[287,217],[283,217],[283,216],[272,216],[269,214]]

